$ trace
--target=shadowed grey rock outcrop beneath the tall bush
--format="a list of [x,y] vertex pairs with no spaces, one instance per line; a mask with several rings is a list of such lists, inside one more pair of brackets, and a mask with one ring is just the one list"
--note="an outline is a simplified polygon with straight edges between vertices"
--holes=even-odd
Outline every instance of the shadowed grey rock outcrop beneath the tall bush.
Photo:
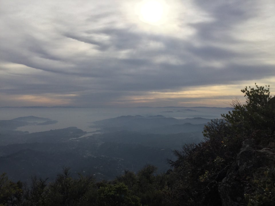
[[253,139],[243,141],[236,161],[219,183],[222,205],[247,205],[245,194],[257,192],[259,188],[253,185],[253,181],[266,179],[267,170],[275,177],[275,146],[260,147]]

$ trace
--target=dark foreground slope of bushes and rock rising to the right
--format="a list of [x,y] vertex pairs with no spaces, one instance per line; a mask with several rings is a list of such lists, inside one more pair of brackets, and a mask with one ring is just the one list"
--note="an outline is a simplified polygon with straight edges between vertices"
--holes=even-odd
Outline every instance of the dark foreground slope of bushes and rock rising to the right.
[[51,183],[34,177],[30,187],[0,177],[0,205],[275,205],[275,98],[269,86],[244,88],[245,104],[209,122],[205,140],[175,150],[171,169],[154,165],[113,181],[70,177]]

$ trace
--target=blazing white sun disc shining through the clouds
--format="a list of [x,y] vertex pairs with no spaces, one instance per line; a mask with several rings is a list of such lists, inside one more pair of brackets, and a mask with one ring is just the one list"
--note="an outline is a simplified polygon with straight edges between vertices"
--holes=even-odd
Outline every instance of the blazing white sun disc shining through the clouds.
[[146,23],[158,24],[164,16],[164,9],[161,1],[144,1],[140,6],[140,19]]

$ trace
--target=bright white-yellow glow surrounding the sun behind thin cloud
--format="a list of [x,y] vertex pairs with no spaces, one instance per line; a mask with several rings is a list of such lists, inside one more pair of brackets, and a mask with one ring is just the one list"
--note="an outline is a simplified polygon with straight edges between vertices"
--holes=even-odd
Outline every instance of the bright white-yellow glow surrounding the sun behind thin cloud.
[[[197,12],[193,13],[192,10]],[[122,13],[128,23],[137,25],[142,32],[178,38],[187,38],[196,32],[190,24],[213,20],[210,15],[195,8],[192,1],[125,1]]]

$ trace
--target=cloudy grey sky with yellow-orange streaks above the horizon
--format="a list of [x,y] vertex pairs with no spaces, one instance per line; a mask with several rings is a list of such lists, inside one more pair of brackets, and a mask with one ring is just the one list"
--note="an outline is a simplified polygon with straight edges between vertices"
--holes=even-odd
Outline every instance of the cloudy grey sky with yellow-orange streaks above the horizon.
[[0,0],[0,106],[228,107],[275,94],[274,0]]

